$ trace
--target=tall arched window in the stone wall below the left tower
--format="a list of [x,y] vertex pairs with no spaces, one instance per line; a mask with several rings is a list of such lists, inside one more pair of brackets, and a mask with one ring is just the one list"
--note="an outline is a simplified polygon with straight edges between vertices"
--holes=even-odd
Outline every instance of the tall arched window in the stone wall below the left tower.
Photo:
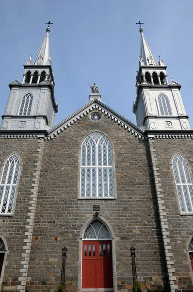
[[10,156],[4,167],[0,180],[0,213],[11,214],[14,197],[16,193],[16,184],[19,173],[20,161],[16,154]]

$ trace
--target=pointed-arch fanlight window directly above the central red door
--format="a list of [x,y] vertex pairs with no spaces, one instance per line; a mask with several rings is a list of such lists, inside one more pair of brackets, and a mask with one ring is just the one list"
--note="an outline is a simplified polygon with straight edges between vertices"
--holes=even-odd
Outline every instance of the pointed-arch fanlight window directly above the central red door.
[[93,221],[84,232],[84,239],[104,239],[111,238],[109,230],[107,227],[99,220]]

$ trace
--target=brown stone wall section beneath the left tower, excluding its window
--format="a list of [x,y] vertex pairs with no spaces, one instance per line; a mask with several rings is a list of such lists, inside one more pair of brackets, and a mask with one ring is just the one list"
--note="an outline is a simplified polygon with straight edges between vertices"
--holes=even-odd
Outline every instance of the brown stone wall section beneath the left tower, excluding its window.
[[[27,238],[26,225],[28,219],[30,194],[33,183],[33,168],[38,140],[32,139],[0,139],[0,165],[13,153],[20,158],[18,188],[16,190],[15,206],[11,216],[0,214],[0,235],[7,243],[7,257],[1,291],[16,291],[21,276],[21,261],[24,240]],[[0,176],[3,167],[0,168]],[[2,276],[2,275],[1,275]]]

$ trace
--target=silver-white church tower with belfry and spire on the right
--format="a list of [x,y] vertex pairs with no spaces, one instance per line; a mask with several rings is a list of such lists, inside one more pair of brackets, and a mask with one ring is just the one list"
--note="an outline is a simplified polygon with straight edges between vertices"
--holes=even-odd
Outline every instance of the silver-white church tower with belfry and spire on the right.
[[137,126],[146,130],[189,130],[188,116],[180,95],[181,85],[169,84],[167,66],[156,60],[147,44],[140,24],[141,55],[137,72],[137,97],[133,105]]

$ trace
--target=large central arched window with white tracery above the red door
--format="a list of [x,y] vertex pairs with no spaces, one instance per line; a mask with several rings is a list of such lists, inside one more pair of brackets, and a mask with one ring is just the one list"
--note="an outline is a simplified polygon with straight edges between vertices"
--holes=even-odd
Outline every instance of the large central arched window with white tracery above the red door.
[[109,139],[94,132],[81,147],[81,198],[113,198],[113,152]]

